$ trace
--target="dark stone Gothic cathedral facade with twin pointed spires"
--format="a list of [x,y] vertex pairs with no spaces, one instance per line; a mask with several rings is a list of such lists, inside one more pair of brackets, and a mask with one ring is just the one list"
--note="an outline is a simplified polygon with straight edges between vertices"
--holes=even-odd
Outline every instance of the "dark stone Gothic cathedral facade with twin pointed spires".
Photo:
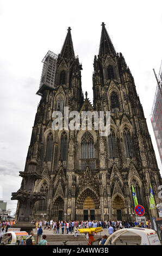
[[[87,93],[83,96],[82,65],[74,55],[70,27],[55,66],[50,54],[45,62],[51,68],[48,65],[49,70],[42,72],[48,83],[41,80],[41,100],[23,172],[31,173],[31,165],[35,166],[38,175],[32,192],[45,195],[33,203],[32,218],[133,220],[132,184],[150,218],[149,184],[158,204],[161,177],[133,76],[123,55],[116,53],[104,23],[94,58],[93,106]],[[52,113],[64,113],[65,106],[69,112],[110,111],[110,135],[103,137],[94,129],[54,131]],[[22,191],[28,190],[24,174]],[[18,214],[20,209],[21,204]]]

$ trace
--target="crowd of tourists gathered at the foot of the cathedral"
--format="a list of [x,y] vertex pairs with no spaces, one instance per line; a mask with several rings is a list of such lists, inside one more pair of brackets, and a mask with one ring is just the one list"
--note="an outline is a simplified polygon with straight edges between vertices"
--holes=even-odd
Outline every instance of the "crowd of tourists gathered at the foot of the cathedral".
[[[11,228],[16,223],[13,221],[0,221],[0,236],[8,231],[8,228]],[[78,234],[78,229],[82,228],[97,228],[102,227],[103,229],[108,229],[107,235],[113,234],[115,231],[123,228],[151,228],[151,221],[146,221],[146,223],[138,223],[136,221],[32,221],[32,224],[35,224],[35,232],[37,234],[36,241],[34,240],[34,232],[32,231],[27,237],[26,242],[22,242],[21,237],[18,239],[18,245],[47,245],[46,235],[42,235],[43,230],[53,230],[54,234],[73,234],[74,239],[76,239]],[[102,237],[102,244],[107,240],[108,236],[104,235]],[[91,244],[94,241],[93,235],[87,234],[88,244]],[[1,239],[0,239],[1,243]]]

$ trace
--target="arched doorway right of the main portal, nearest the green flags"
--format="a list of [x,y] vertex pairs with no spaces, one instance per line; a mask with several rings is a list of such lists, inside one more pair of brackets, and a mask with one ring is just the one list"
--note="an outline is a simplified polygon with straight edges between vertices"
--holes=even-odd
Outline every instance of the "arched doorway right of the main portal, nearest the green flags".
[[120,194],[116,194],[113,197],[112,211],[114,220],[121,221],[127,218],[126,203]]

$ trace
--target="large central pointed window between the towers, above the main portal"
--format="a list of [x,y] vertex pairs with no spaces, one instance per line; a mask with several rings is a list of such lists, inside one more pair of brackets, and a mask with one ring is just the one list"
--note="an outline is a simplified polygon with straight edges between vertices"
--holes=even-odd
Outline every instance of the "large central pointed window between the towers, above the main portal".
[[95,144],[91,133],[85,132],[81,141],[81,158],[94,159],[95,158]]

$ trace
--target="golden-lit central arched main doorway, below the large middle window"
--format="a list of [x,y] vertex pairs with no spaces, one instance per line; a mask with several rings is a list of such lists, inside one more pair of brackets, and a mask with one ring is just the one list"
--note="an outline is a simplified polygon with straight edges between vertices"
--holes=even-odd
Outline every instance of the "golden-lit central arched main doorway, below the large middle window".
[[84,221],[95,220],[95,203],[90,196],[84,200],[83,215],[84,215]]

